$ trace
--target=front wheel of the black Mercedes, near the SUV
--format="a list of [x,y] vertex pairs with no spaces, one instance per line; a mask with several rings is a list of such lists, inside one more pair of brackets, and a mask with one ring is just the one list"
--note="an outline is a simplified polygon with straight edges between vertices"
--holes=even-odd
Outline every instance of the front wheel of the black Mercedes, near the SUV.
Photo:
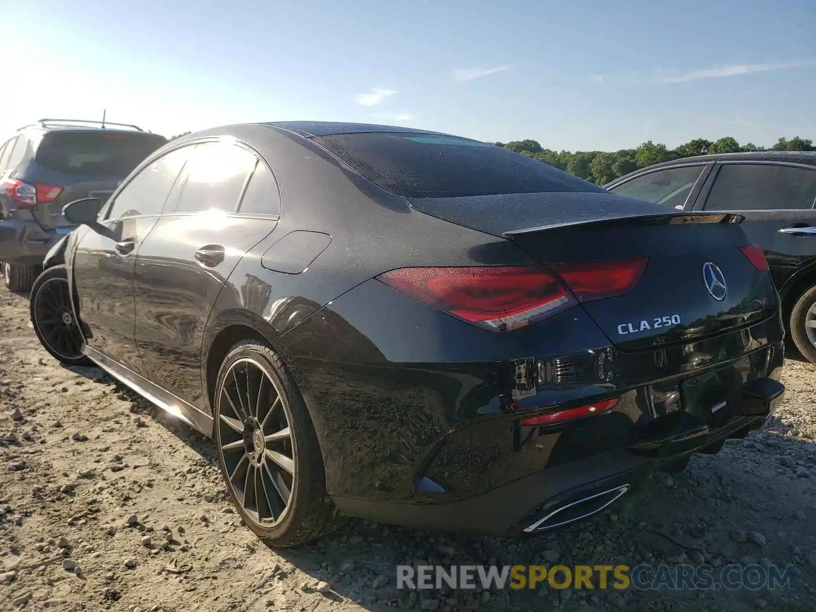
[[47,268],[31,287],[31,323],[42,346],[69,366],[91,366],[82,354],[85,339],[71,308],[68,271],[64,265]]

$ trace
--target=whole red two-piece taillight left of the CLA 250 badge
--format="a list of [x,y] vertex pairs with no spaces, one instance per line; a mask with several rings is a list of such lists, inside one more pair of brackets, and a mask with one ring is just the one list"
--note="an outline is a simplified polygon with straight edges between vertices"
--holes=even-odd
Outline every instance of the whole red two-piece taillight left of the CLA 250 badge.
[[[510,331],[578,301],[635,288],[648,259],[490,268],[399,268],[380,281],[491,331]],[[569,288],[568,288],[569,287]],[[577,298],[577,299],[576,299]]]

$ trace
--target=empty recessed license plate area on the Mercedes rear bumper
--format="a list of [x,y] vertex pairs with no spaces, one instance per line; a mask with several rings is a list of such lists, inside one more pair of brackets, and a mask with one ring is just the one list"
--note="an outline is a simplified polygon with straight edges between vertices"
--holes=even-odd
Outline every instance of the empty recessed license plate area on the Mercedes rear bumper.
[[733,366],[718,368],[682,381],[681,404],[710,429],[721,428],[736,415],[739,386]]

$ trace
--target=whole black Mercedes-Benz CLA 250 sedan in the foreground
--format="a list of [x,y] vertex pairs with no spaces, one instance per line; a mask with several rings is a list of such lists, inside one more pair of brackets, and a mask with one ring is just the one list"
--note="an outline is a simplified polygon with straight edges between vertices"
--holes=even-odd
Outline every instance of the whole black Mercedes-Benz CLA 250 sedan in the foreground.
[[536,534],[783,397],[762,251],[492,144],[392,126],[172,140],[56,245],[31,319],[215,438],[266,542],[343,515]]

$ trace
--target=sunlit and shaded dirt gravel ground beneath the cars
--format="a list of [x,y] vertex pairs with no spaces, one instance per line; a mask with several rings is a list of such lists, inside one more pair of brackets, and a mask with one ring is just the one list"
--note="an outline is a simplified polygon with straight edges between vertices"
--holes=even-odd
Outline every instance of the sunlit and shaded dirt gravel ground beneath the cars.
[[[226,500],[211,441],[96,368],[65,368],[0,290],[2,610],[816,610],[816,368],[788,360],[762,432],[536,539],[349,521],[273,552]],[[796,566],[792,591],[422,592],[397,563]]]

